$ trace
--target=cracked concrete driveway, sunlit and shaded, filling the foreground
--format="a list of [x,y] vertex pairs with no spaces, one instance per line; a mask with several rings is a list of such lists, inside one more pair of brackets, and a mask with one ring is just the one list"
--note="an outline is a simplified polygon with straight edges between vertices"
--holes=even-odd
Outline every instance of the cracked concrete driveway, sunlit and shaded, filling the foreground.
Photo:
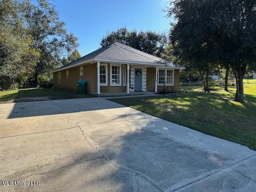
[[40,182],[0,191],[256,189],[255,151],[104,98],[1,104],[0,151],[1,181]]

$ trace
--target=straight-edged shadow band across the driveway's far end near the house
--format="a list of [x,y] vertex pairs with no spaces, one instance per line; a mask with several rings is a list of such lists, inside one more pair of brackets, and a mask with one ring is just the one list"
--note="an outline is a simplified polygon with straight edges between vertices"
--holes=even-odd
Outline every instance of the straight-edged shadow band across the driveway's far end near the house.
[[[6,107],[8,105],[10,108]],[[122,107],[124,106],[102,98],[79,98],[0,105],[1,110],[6,110],[3,114],[7,114],[8,119]]]

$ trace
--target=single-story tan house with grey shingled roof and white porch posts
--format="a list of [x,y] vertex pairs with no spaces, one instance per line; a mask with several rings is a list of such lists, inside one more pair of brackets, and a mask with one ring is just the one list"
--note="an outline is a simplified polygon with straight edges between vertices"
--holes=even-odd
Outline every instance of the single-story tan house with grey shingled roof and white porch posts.
[[122,43],[113,43],[54,71],[53,87],[77,90],[86,80],[88,93],[176,91],[183,66]]

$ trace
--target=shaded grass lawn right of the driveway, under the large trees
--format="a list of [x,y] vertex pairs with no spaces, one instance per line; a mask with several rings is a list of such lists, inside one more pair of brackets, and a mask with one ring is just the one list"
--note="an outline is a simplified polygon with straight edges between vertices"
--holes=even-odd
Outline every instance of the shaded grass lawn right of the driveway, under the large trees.
[[[247,82],[245,80],[244,82]],[[111,101],[174,122],[205,134],[223,138],[256,150],[256,80],[244,83],[244,100],[234,102],[236,87],[182,87],[186,94],[169,97],[116,98]]]

